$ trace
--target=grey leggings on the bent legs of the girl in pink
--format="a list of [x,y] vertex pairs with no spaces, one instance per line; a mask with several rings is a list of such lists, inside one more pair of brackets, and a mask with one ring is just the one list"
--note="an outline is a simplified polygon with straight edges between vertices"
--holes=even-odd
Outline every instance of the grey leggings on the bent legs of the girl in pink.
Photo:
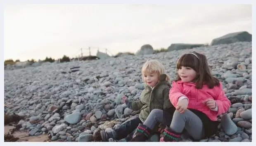
[[[165,115],[171,116],[171,114]],[[172,119],[172,121],[168,121],[167,119]],[[178,133],[181,133],[185,128],[187,132],[197,140],[201,139],[202,135],[204,134],[203,123],[201,119],[188,109],[183,114],[175,110],[173,118],[164,117],[164,111],[161,109],[153,109],[143,124],[150,129],[153,129],[157,122],[164,125],[170,125],[171,122],[170,128]]]

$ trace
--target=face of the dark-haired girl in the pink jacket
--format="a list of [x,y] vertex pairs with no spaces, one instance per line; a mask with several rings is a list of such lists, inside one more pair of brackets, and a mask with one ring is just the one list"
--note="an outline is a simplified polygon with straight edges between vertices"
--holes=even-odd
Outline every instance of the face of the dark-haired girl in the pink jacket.
[[184,83],[193,81],[197,76],[197,72],[195,70],[193,70],[191,67],[185,67],[185,66],[182,66],[178,69],[178,74],[180,76],[180,79]]

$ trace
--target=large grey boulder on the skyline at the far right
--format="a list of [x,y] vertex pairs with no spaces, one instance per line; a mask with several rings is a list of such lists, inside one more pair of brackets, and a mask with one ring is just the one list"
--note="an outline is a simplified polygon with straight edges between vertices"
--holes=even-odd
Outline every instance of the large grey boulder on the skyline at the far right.
[[233,32],[211,41],[211,45],[231,44],[235,42],[251,42],[252,35],[246,31]]

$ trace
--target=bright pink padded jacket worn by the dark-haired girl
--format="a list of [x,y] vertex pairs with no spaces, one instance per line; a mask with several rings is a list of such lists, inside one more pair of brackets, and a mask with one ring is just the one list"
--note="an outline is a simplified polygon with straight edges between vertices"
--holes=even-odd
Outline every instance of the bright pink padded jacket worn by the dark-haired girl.
[[[192,82],[183,83],[180,81],[173,81],[172,88],[169,92],[169,98],[174,107],[178,104],[178,98],[181,96],[186,96],[189,99],[188,109],[197,109],[198,111],[206,114],[211,121],[216,121],[217,116],[224,114],[230,108],[231,102],[225,96],[222,89],[222,83],[220,86],[214,86],[214,88],[209,89],[207,85],[203,88],[197,89],[196,84]],[[218,106],[218,111],[213,111],[206,104],[203,103],[204,100],[212,98],[216,101]]]

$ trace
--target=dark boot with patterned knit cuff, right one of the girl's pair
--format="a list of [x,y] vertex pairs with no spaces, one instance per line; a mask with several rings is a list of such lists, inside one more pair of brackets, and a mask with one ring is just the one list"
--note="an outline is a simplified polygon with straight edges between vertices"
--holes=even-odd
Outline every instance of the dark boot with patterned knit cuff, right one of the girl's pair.
[[160,142],[177,142],[180,138],[181,133],[171,130],[167,127],[164,129],[164,132],[160,135]]

